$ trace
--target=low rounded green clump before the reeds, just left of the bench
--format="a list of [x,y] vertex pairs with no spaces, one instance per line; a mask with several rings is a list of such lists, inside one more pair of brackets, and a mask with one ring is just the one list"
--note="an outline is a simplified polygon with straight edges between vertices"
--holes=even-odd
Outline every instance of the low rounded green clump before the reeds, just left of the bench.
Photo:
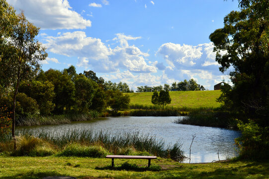
[[104,158],[108,151],[98,146],[82,146],[80,144],[70,144],[58,156],[76,156],[76,157],[93,157]]

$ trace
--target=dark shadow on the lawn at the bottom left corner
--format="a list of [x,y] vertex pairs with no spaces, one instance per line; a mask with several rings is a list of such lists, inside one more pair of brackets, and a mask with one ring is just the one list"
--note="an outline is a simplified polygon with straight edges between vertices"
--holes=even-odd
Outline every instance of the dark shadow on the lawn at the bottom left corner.
[[42,179],[44,177],[49,177],[49,176],[63,176],[63,175],[56,171],[48,171],[48,172],[31,171],[31,172],[17,174],[13,176],[0,177],[0,179]]

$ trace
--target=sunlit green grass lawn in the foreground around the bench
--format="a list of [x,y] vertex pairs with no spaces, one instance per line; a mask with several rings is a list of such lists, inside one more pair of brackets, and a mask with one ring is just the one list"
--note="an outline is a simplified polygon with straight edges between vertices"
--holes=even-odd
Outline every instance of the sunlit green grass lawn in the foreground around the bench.
[[[147,160],[115,159],[115,165],[147,166]],[[208,164],[180,164],[172,160],[152,160],[159,172],[95,169],[111,165],[111,159],[78,157],[0,156],[0,179],[40,179],[46,176],[71,176],[78,179],[266,179],[269,161],[230,161]]]

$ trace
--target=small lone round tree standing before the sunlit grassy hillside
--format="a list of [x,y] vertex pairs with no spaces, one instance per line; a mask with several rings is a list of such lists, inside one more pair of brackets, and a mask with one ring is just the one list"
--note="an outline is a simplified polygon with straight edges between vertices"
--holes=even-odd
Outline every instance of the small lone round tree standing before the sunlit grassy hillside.
[[151,96],[151,102],[153,104],[158,104],[162,109],[165,108],[165,105],[171,103],[171,97],[169,91],[161,90],[160,94],[155,90]]

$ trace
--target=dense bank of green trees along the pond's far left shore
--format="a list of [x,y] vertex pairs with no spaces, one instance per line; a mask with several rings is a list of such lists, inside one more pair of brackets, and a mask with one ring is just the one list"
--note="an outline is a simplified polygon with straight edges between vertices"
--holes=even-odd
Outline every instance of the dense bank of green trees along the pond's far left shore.
[[[16,97],[16,116],[102,112],[111,107],[114,112],[126,108],[131,92],[126,83],[118,84],[96,77],[93,71],[77,74],[74,66],[63,71],[40,70],[32,81],[22,81]],[[12,109],[13,91],[1,93],[0,105]]]

